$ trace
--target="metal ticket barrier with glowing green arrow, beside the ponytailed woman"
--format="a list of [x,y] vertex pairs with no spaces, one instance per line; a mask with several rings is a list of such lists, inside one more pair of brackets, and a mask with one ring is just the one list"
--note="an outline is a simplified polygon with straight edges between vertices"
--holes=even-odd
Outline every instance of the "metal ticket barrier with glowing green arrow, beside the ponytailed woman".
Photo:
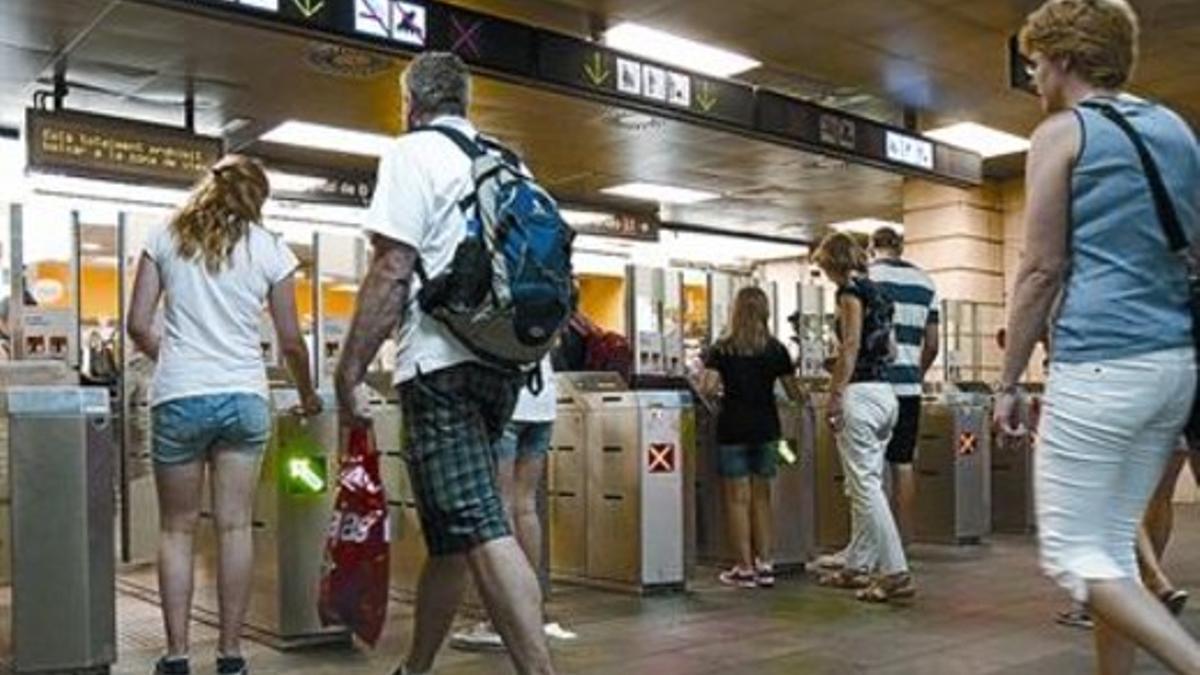
[[[338,422],[331,392],[324,412],[292,414],[295,389],[271,390],[274,424],[254,504],[254,584],[246,626],[276,649],[348,643],[346,628],[317,615],[325,533],[334,508]],[[197,533],[196,613],[217,616],[217,540],[211,509]]]

